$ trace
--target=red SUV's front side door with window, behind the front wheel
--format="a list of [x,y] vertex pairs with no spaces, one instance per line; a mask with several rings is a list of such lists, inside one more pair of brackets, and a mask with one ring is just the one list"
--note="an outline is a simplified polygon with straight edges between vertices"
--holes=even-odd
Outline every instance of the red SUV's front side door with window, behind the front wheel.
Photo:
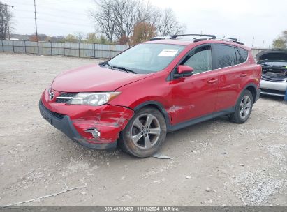
[[[192,67],[193,75],[181,78],[172,77],[177,73],[179,65]],[[170,76],[173,103],[170,107],[172,124],[214,112],[218,77],[212,71],[212,66],[211,45],[200,45],[193,48],[175,67]]]

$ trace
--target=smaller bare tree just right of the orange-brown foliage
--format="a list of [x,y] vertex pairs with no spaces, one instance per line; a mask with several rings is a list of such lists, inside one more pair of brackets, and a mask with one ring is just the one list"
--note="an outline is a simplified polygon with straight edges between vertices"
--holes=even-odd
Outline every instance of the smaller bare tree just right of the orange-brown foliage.
[[161,13],[156,28],[158,29],[160,36],[169,36],[184,33],[186,27],[177,22],[172,8],[166,8]]

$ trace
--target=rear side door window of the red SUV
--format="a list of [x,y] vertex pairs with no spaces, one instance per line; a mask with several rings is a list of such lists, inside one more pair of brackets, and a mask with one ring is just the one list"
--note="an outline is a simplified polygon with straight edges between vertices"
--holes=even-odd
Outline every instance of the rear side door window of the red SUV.
[[237,64],[235,48],[228,45],[215,45],[216,68],[224,68]]

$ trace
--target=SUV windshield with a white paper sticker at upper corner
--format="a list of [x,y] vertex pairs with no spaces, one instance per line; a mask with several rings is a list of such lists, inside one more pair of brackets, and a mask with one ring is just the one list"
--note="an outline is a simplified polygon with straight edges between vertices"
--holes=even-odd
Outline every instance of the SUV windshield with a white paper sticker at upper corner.
[[140,74],[155,73],[166,68],[183,49],[183,45],[144,43],[115,56],[108,61],[108,67]]

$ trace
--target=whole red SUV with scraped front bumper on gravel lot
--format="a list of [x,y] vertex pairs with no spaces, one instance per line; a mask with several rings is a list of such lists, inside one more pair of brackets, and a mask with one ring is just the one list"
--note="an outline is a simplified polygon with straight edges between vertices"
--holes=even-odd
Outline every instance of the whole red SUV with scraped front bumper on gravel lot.
[[235,39],[184,36],[61,73],[41,96],[42,116],[79,144],[118,144],[142,158],[167,132],[223,115],[244,123],[260,94],[261,66],[250,49]]

